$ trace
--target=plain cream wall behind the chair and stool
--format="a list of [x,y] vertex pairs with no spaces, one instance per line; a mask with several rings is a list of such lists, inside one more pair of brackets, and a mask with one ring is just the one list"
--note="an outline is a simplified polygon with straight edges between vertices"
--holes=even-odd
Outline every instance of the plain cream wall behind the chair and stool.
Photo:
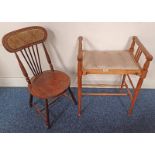
[[[56,69],[65,71],[76,86],[77,37],[84,36],[84,47],[97,50],[119,50],[130,46],[136,35],[155,58],[155,23],[0,23],[0,39],[9,31],[40,25],[48,29],[48,48]],[[47,68],[45,59],[44,67]],[[143,88],[155,88],[155,61],[151,63]],[[85,76],[84,81],[116,83],[120,76]],[[0,86],[26,86],[15,56],[6,52],[0,41]]]

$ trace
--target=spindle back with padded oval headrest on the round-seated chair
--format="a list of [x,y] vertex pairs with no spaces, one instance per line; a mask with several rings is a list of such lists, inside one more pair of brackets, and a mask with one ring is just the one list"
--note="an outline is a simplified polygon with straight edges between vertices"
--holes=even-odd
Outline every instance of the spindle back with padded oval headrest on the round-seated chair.
[[26,80],[29,84],[31,83],[31,81],[18,55],[18,52],[20,52],[25,59],[33,75],[39,75],[42,73],[42,66],[40,61],[38,44],[41,44],[45,52],[47,61],[49,63],[50,69],[53,71],[53,65],[44,44],[46,39],[47,31],[45,30],[45,28],[40,26],[26,27],[16,31],[12,31],[6,34],[2,39],[4,48],[10,53],[15,53],[23,75],[26,77]]

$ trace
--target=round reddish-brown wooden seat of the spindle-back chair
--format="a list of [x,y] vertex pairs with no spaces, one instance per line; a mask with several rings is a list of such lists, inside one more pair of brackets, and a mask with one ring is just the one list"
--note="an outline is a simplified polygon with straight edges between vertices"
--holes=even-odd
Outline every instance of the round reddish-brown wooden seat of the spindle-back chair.
[[49,98],[61,95],[70,85],[70,78],[61,71],[44,71],[32,77],[28,86],[31,94],[39,98]]

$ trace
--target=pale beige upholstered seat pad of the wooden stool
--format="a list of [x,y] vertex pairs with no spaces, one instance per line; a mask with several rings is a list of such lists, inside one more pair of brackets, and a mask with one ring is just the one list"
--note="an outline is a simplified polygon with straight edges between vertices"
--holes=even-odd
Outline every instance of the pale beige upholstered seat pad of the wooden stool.
[[129,51],[84,51],[83,68],[109,70],[134,70],[140,68]]

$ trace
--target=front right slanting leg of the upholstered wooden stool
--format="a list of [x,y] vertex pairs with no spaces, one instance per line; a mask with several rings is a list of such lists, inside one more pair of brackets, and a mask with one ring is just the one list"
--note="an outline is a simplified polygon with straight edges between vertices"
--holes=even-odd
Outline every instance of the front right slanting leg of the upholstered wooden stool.
[[128,115],[131,115],[131,114],[132,114],[132,111],[133,111],[133,108],[134,108],[136,99],[137,99],[137,97],[138,97],[140,88],[141,88],[141,86],[142,86],[143,80],[144,80],[143,78],[140,78],[139,81],[138,81],[138,83],[137,83],[137,87],[136,87],[136,89],[134,90],[134,96],[133,96],[133,99],[132,99],[132,101],[131,101],[131,106],[130,106],[130,108],[129,108]]

